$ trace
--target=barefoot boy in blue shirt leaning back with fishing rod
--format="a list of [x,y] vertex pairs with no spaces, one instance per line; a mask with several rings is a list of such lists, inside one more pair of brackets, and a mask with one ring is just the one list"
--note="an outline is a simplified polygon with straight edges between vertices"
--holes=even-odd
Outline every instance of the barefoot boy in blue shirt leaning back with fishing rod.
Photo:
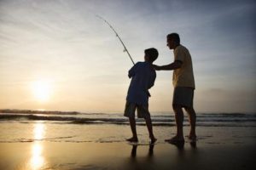
[[149,139],[154,144],[153,128],[150,113],[148,111],[148,97],[150,96],[148,89],[154,86],[156,73],[153,68],[153,62],[158,57],[158,51],[155,48],[144,50],[144,62],[137,62],[131,67],[128,77],[131,78],[130,87],[126,97],[125,116],[129,117],[132,137],[126,139],[129,142],[137,142],[137,130],[135,121],[135,110],[137,117],[144,118],[148,127]]

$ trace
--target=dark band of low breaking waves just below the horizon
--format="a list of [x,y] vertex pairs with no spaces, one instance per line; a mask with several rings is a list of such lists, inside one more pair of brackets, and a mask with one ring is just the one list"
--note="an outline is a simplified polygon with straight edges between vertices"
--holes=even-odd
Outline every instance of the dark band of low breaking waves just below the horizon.
[[[151,116],[154,126],[175,126],[173,115]],[[75,115],[48,115],[48,114],[0,114],[0,122],[15,121],[30,123],[32,121],[44,121],[49,123],[71,123],[71,124],[116,124],[127,125],[129,121],[122,114],[75,114]],[[205,127],[256,127],[256,114],[244,113],[220,113],[220,114],[198,114],[197,126]],[[137,119],[137,125],[145,125],[143,119]],[[184,126],[189,126],[185,116]]]

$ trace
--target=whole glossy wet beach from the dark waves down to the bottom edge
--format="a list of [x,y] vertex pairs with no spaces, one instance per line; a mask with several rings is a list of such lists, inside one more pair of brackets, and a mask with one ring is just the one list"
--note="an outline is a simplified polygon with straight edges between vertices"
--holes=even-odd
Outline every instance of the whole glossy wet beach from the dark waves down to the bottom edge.
[[170,126],[154,126],[154,145],[148,145],[147,127],[137,126],[140,143],[131,145],[125,142],[129,125],[2,121],[0,170],[256,169],[256,128],[237,125],[196,127],[196,143],[177,146],[165,142],[176,132]]

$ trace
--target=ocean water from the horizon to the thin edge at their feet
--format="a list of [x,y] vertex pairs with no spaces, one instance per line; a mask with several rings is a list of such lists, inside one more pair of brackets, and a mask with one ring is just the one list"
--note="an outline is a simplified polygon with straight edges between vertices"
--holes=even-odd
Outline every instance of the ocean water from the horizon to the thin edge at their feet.
[[[123,113],[84,113],[61,111],[5,111],[0,113],[0,143],[33,141],[50,142],[123,142],[131,137],[129,121]],[[154,133],[163,142],[175,135],[172,113],[151,114]],[[184,135],[189,133],[188,116],[184,115]],[[199,141],[217,142],[214,137],[239,143],[256,138],[255,113],[200,113],[196,131]],[[143,119],[137,119],[138,138],[148,141]],[[235,138],[235,139],[234,139]],[[244,140],[242,140],[243,142]],[[222,142],[218,141],[217,143]]]

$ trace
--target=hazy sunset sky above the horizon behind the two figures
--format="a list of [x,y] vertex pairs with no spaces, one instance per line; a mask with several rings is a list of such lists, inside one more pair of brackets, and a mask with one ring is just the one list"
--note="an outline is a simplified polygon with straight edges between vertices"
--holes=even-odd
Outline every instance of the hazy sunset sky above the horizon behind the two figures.
[[[197,112],[256,111],[254,0],[0,0],[0,109],[122,112],[145,48],[189,49]],[[172,71],[157,71],[149,111],[172,112]]]

